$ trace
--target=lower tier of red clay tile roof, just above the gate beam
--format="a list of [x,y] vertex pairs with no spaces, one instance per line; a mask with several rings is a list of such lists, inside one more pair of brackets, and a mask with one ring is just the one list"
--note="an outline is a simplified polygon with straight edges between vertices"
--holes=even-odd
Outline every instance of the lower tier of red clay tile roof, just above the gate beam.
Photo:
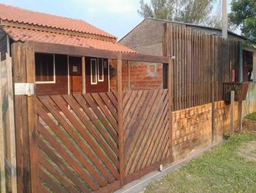
[[52,33],[48,31],[24,29],[19,27],[3,26],[2,28],[14,41],[24,42],[26,40],[31,40],[36,42],[59,43],[118,52],[136,53],[134,50],[131,50],[120,43],[109,42],[106,40]]

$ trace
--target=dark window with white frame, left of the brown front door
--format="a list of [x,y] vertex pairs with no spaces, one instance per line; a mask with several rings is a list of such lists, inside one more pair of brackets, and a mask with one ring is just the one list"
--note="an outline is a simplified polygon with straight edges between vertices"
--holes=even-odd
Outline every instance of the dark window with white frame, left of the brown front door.
[[35,54],[36,83],[55,83],[54,54]]

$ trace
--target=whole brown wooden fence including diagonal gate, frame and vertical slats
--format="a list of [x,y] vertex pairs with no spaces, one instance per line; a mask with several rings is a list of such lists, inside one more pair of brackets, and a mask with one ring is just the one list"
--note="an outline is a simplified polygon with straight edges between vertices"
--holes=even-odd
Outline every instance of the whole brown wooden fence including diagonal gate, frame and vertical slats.
[[[35,52],[117,60],[117,93],[15,95],[19,192],[111,192],[173,161],[173,109],[212,102],[213,113],[214,100],[222,97],[221,79],[230,80],[236,63],[226,57],[224,68],[224,59],[217,63],[216,58],[237,45],[189,29],[166,26],[168,30],[164,38],[173,46],[165,52],[176,56],[174,61],[51,43],[13,43],[15,83],[35,85]],[[123,60],[168,65],[168,89],[122,91]],[[212,120],[214,124],[214,116]]]

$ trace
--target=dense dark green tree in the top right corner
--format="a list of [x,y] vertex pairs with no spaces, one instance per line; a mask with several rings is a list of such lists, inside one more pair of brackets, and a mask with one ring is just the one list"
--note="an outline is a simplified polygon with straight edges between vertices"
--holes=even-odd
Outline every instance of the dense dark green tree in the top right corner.
[[240,27],[244,36],[256,42],[255,0],[232,0],[231,13],[228,17],[232,24]]

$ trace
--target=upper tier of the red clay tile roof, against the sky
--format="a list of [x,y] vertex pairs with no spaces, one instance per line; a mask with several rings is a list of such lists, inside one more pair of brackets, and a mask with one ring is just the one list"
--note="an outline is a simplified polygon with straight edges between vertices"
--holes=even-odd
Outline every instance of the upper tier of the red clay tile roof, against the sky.
[[20,24],[51,27],[65,31],[76,31],[80,33],[116,38],[115,36],[110,35],[109,33],[106,33],[83,20],[33,12],[6,4],[0,4],[0,19],[8,20],[9,22],[19,22]]

